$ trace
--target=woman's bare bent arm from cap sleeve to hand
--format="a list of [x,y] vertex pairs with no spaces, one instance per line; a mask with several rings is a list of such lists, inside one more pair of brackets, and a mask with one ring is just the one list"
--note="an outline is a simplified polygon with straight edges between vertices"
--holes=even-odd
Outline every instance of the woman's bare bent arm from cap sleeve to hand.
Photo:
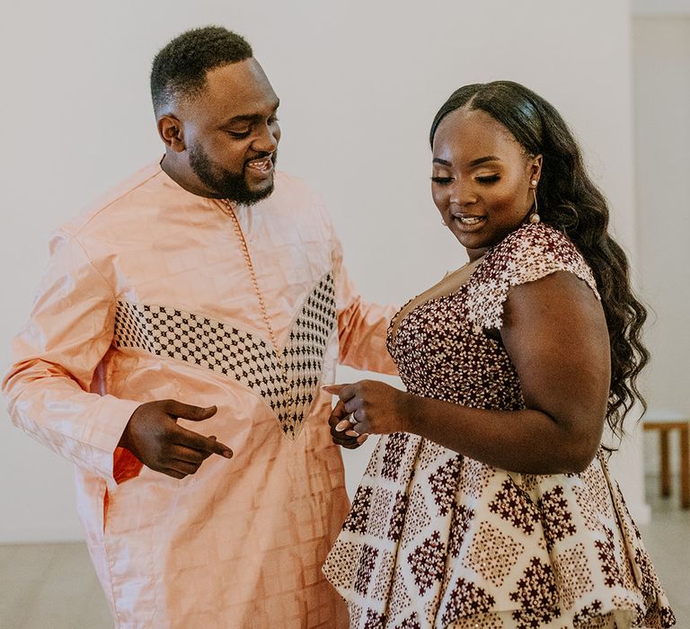
[[[510,288],[500,336],[525,410],[473,409],[365,380],[339,389],[333,415],[354,413],[360,434],[404,430],[515,472],[583,470],[600,443],[610,382],[608,332],[597,297],[562,271]],[[338,427],[349,430],[344,421]]]

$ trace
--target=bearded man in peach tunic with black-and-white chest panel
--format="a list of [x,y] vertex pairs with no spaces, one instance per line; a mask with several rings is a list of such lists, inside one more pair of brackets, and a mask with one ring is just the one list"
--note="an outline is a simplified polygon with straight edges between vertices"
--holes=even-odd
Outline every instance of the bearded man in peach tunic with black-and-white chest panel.
[[11,416],[77,466],[117,625],[345,626],[321,572],[348,499],[320,385],[338,359],[394,370],[390,309],[274,171],[279,99],[243,38],[181,34],[151,87],[164,158],[54,237]]

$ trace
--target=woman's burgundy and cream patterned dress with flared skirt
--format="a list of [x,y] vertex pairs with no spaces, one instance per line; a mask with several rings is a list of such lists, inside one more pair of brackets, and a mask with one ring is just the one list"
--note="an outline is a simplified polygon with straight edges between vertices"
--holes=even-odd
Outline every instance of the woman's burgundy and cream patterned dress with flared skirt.
[[[412,394],[482,409],[524,408],[500,341],[509,287],[554,271],[597,294],[591,270],[552,227],[522,226],[446,297],[412,309],[389,350]],[[668,627],[668,600],[609,476],[507,472],[407,433],[380,439],[323,567],[350,625]]]

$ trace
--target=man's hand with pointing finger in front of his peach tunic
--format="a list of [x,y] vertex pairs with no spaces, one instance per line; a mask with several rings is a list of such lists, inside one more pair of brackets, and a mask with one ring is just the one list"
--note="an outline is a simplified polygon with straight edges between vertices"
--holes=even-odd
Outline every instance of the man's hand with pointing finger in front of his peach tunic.
[[233,456],[233,451],[215,437],[204,437],[177,425],[178,418],[203,421],[216,412],[216,406],[201,408],[175,400],[144,403],[132,413],[118,445],[126,447],[146,467],[184,478],[195,474],[212,454]]

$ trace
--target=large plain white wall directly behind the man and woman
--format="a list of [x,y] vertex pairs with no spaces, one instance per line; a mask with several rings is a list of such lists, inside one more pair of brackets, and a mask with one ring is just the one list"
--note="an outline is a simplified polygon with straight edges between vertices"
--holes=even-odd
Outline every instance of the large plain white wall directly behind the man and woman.
[[[323,193],[366,297],[403,302],[464,261],[429,197],[427,133],[456,87],[497,78],[527,84],[570,120],[634,264],[625,0],[66,0],[40,13],[16,4],[0,26],[4,362],[50,230],[161,153],[147,93],[156,49],[208,22],[252,42],[283,102],[280,165]],[[0,443],[0,541],[80,536],[69,466],[4,414]],[[621,475],[644,518],[641,458],[632,450]],[[349,486],[366,454],[345,454]]]

